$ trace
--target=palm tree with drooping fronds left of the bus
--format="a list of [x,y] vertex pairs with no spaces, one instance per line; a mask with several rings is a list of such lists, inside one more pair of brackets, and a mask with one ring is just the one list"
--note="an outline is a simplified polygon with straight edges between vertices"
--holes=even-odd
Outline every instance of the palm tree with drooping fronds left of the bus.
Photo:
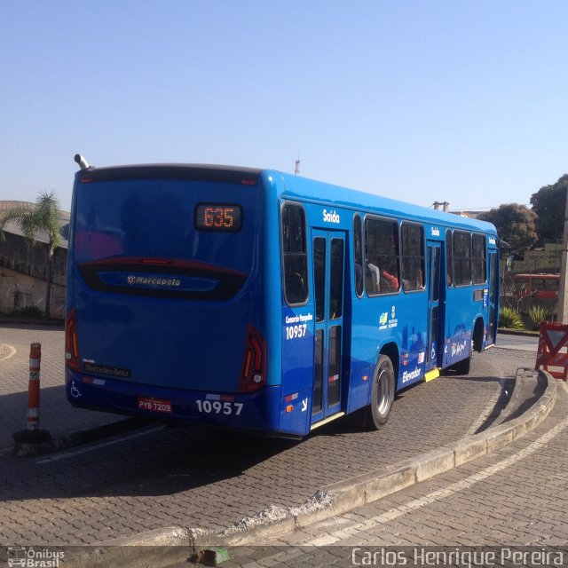
[[4,235],[4,225],[13,221],[20,226],[21,232],[30,246],[36,244],[36,234],[47,233],[47,286],[45,289],[45,317],[51,316],[51,284],[53,283],[53,253],[59,247],[59,201],[55,192],[40,193],[36,207],[15,207],[8,209],[0,218],[0,233]]

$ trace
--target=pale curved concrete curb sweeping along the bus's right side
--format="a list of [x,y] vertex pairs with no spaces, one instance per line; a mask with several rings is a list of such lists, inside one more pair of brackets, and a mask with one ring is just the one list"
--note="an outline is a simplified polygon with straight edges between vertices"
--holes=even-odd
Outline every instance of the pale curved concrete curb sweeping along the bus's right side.
[[[453,444],[441,446],[430,452],[419,454],[409,460],[401,461],[389,468],[371,471],[360,476],[322,487],[312,498],[293,509],[271,506],[256,514],[255,517],[242,519],[240,523],[223,531],[201,529],[183,529],[170,527],[157,531],[141,533],[133,537],[108,540],[99,543],[94,553],[76,557],[66,565],[83,568],[100,564],[119,555],[120,565],[138,566],[141,558],[146,561],[146,550],[152,546],[172,547],[162,549],[162,559],[167,555],[170,562],[172,554],[187,558],[197,548],[209,546],[262,545],[265,540],[280,536],[312,525],[330,517],[336,517],[351,509],[382,499],[405,487],[414,485],[440,473],[454,469],[485,454],[490,454],[511,442],[522,438],[536,428],[552,410],[556,401],[556,380],[548,373],[540,371],[547,380],[547,387],[540,400],[522,416],[489,428],[479,434],[461,438]],[[138,548],[131,548],[138,547]],[[115,550],[117,548],[117,550]],[[123,548],[120,552],[120,548]],[[129,550],[130,548],[130,550]],[[177,552],[175,552],[175,549]],[[91,564],[84,564],[86,556]],[[118,556],[116,556],[118,558]],[[75,561],[77,564],[75,564]],[[98,562],[98,564],[97,564]],[[112,565],[112,564],[108,564]],[[157,565],[157,564],[155,564]]]

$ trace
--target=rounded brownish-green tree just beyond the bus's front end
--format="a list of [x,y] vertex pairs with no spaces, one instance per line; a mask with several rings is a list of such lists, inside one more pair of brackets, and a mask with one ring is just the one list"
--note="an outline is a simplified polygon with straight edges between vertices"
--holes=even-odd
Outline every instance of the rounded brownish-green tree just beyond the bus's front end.
[[497,227],[497,234],[509,243],[513,255],[523,256],[525,250],[537,241],[536,213],[525,205],[506,203],[482,213],[478,218]]

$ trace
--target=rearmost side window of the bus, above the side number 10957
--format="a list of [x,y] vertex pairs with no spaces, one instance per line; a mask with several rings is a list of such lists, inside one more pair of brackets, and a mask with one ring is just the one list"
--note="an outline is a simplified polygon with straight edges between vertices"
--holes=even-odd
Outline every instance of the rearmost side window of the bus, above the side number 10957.
[[308,300],[308,256],[305,242],[305,214],[299,205],[282,208],[282,255],[284,295],[290,305]]

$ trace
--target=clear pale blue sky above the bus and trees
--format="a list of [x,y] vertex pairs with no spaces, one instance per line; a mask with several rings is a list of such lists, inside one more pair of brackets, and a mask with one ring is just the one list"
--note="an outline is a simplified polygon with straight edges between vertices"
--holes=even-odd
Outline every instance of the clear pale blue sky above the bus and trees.
[[73,157],[223,163],[430,206],[568,172],[564,0],[0,0],[0,200]]

